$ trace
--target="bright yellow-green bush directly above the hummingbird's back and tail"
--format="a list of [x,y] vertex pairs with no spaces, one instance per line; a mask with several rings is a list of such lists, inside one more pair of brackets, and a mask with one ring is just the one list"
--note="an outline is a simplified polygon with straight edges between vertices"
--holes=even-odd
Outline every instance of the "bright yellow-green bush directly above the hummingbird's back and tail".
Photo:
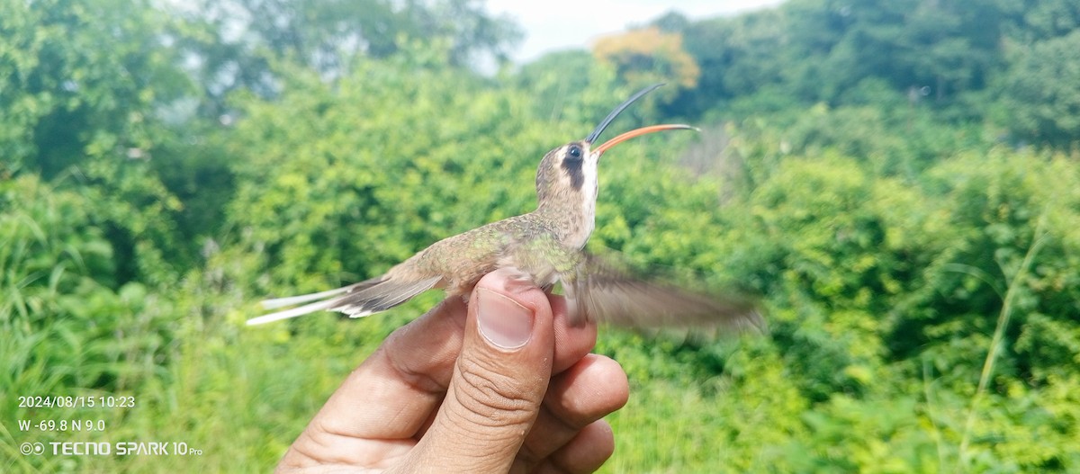
[[535,202],[522,186],[535,173],[525,157],[543,149],[523,132],[525,118],[511,114],[525,109],[519,95],[386,63],[354,77],[337,91],[298,77],[307,82],[280,101],[251,101],[235,131],[241,186],[230,214],[266,247],[275,282],[314,277],[322,287],[370,276],[417,242]]

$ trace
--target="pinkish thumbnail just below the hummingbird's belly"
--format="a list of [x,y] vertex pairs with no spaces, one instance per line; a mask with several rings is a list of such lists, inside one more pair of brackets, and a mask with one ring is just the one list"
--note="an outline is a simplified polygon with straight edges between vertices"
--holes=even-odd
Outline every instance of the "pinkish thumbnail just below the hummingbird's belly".
[[532,337],[532,311],[500,293],[476,292],[476,323],[488,342],[502,349],[518,349]]

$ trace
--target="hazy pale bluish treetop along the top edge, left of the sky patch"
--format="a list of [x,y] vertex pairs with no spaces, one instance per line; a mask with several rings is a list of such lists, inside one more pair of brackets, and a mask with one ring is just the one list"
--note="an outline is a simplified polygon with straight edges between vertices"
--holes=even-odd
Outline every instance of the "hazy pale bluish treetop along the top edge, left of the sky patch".
[[408,52],[408,43],[419,41],[468,68],[484,58],[507,62],[521,37],[513,23],[477,0],[200,0],[181,11],[187,25],[176,41],[198,59],[189,63],[213,99],[212,117],[227,109],[225,97],[233,90],[275,96],[281,83],[274,68],[283,60],[333,80],[359,60]]

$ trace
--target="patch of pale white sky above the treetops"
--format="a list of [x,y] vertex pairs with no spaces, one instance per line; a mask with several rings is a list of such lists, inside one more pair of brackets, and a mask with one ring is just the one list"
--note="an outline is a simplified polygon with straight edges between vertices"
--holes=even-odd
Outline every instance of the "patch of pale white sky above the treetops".
[[[691,19],[732,15],[782,0],[488,0],[488,12],[505,14],[525,32],[513,59],[527,63],[552,51],[588,49],[596,38],[623,31],[672,10]],[[677,5],[677,6],[676,6]]]

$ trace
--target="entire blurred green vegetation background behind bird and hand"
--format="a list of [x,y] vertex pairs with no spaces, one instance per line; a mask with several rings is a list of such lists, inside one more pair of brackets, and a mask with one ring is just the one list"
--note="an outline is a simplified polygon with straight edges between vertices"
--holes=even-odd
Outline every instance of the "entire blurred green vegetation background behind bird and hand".
[[[1080,471],[1077,2],[671,13],[524,65],[478,1],[184,4],[0,2],[0,471],[268,471],[440,296],[247,328],[254,302],[531,209],[542,153],[656,81],[616,128],[703,132],[605,160],[590,245],[751,286],[772,334],[604,329],[632,383],[607,472]],[[202,453],[18,453],[124,439]]]

